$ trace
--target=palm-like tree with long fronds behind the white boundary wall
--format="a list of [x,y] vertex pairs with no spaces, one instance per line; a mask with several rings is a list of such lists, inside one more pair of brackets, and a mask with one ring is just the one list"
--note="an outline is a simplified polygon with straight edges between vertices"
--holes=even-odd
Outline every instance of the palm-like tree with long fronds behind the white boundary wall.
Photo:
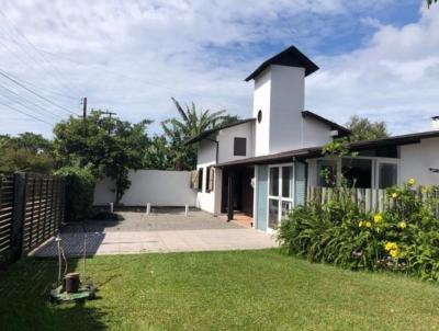
[[238,121],[237,116],[226,114],[226,111],[211,112],[210,110],[198,111],[192,102],[185,109],[172,98],[172,102],[180,118],[169,118],[161,123],[167,140],[172,150],[176,170],[192,170],[196,164],[196,146],[185,146],[184,141],[201,133],[225,124]]

